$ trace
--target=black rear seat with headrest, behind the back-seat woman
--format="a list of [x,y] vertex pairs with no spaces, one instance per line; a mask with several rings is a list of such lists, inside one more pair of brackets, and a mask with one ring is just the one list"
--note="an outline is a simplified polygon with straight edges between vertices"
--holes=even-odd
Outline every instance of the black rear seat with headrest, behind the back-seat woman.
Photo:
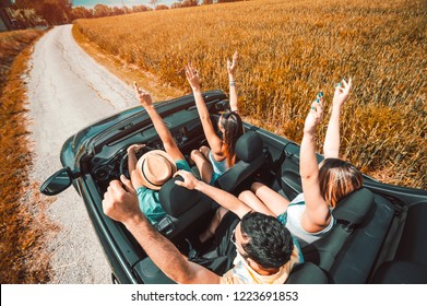
[[336,224],[324,237],[303,247],[332,283],[366,283],[394,214],[393,205],[369,189],[344,198],[332,212]]

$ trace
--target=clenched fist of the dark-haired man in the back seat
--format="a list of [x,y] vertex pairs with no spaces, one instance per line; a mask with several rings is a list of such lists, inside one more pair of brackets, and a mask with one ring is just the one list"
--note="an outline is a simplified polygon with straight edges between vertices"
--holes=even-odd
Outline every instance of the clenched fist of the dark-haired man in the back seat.
[[103,210],[106,215],[121,223],[141,216],[138,197],[132,184],[124,176],[119,180],[110,181],[107,192],[104,193]]

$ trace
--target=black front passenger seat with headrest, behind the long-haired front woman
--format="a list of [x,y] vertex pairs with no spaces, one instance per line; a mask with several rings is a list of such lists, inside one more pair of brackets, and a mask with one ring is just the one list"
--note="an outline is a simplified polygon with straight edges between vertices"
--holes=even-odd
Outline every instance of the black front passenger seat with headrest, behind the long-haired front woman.
[[215,186],[232,192],[248,177],[261,168],[265,162],[263,141],[254,131],[247,131],[236,142],[239,161],[215,181]]

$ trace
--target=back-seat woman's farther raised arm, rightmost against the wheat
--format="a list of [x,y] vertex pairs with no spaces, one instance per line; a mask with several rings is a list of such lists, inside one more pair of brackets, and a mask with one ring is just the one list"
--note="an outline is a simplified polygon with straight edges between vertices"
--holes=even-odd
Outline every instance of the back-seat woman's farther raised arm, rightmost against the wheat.
[[[341,86],[343,85],[343,86]],[[329,120],[327,136],[324,138],[323,154],[324,158],[339,158],[340,156],[340,116],[344,102],[348,97],[352,89],[352,78],[348,83],[343,79],[343,83],[339,83],[335,87],[335,93],[332,101],[332,114]]]

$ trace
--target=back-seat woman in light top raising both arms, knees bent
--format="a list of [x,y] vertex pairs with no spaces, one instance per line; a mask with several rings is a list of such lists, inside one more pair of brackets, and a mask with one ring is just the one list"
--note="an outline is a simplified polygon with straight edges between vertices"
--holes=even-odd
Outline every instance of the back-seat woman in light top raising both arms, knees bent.
[[[342,86],[343,85],[343,86]],[[316,130],[323,115],[323,94],[319,93],[306,118],[300,148],[299,172],[303,192],[293,201],[261,183],[252,184],[239,199],[254,211],[276,216],[300,243],[312,243],[324,236],[333,226],[331,211],[337,202],[359,189],[361,173],[352,164],[339,158],[340,115],[352,87],[348,83],[337,84],[332,102],[323,151],[324,161],[318,165],[316,156]]]

